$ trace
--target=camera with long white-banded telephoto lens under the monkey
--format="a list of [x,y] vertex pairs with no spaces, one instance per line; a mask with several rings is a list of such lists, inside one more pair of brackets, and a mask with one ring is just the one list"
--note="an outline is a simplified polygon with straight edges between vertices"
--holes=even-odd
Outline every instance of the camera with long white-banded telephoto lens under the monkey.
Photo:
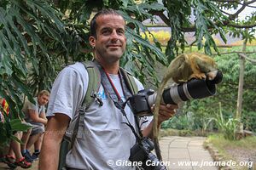
[[[222,81],[223,74],[217,72],[213,80],[190,79],[166,88],[162,94],[161,103],[178,104],[189,99],[203,99],[216,94],[216,84]],[[137,116],[152,116],[150,106],[155,103],[157,94],[152,89],[144,89],[130,98],[131,110]]]

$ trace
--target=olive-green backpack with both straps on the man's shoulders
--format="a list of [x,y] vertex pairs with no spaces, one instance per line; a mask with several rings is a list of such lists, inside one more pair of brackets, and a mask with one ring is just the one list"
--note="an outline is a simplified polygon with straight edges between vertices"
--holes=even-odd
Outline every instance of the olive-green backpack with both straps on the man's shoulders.
[[[77,120],[74,122],[74,127],[72,130],[72,134],[68,137],[66,134],[64,135],[61,141],[61,148],[59,153],[59,166],[58,170],[66,170],[66,156],[69,150],[72,150],[74,141],[81,132],[81,128],[84,126],[84,112],[90,105],[95,101],[97,92],[101,86],[101,73],[98,70],[95,63],[92,61],[83,62],[86,71],[88,72],[89,82],[87,92],[85,94],[82,105],[79,109],[79,115]],[[125,71],[123,68],[120,68],[120,71],[125,79],[126,86],[130,90],[131,94],[137,94],[137,84],[131,74]]]

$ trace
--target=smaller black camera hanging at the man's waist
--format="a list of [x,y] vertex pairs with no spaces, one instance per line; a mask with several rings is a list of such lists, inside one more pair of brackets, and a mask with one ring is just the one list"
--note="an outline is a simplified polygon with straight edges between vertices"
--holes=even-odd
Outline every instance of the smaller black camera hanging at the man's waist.
[[144,170],[166,170],[166,166],[157,159],[150,151],[154,149],[154,143],[151,139],[143,138],[141,143],[136,143],[131,148],[131,162],[141,161]]

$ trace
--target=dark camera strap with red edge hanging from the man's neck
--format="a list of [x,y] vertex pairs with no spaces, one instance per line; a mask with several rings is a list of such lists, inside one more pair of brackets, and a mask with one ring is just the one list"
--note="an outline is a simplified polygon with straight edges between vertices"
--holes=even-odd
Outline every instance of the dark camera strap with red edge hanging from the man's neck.
[[123,93],[125,95],[125,102],[121,99],[119,92],[114,87],[114,84],[113,84],[111,78],[109,77],[108,72],[106,72],[104,70],[104,68],[101,65],[99,65],[98,63],[96,63],[96,65],[98,66],[98,69],[101,73],[101,82],[102,82],[102,86],[103,86],[106,94],[113,101],[113,104],[115,105],[115,107],[118,108],[119,111],[121,111],[123,116],[125,116],[125,119],[127,120],[127,122],[123,122],[123,123],[125,123],[128,127],[131,128],[132,133],[134,133],[137,141],[140,143],[140,141],[141,141],[140,136],[143,137],[143,134],[141,133],[141,131],[138,127],[137,117],[135,116],[134,118],[135,118],[135,122],[138,127],[138,133],[140,136],[137,134],[135,128],[131,125],[131,122],[129,121],[129,119],[125,113],[125,105],[126,104],[131,108],[131,105],[129,105],[129,103],[127,101],[131,97],[132,94],[126,86],[125,79],[124,79],[123,75],[121,74],[121,71],[119,71],[119,80],[120,80],[120,84],[121,84]]

